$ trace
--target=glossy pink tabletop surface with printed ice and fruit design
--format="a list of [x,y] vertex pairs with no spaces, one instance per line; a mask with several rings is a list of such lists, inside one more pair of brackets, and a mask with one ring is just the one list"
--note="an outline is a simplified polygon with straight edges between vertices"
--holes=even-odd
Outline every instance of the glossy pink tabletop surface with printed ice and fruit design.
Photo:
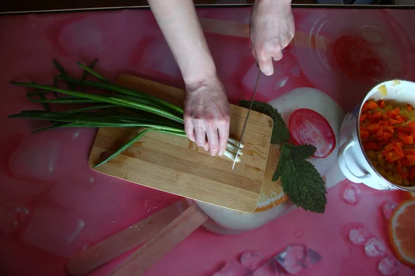
[[[198,10],[203,18],[241,23],[248,23],[249,12],[248,8]],[[259,83],[257,99],[270,101],[294,88],[311,87],[348,110],[376,82],[376,74],[380,79],[415,80],[415,10],[296,9],[294,15],[297,32],[306,34],[306,40],[315,38],[317,48],[322,37],[336,41],[344,34],[365,36],[356,34],[365,27],[375,36],[371,40],[378,43],[381,54],[370,60],[367,71],[356,75],[333,66],[330,47],[318,50],[307,41],[291,45],[284,50],[284,59],[275,63],[275,74]],[[75,61],[90,63],[99,58],[96,68],[109,79],[129,72],[181,88],[183,81],[149,10],[3,16],[0,34],[0,274],[65,275],[64,264],[77,250],[179,198],[91,170],[87,157],[95,130],[33,135],[30,130],[41,123],[7,119],[20,110],[39,108],[28,103],[22,88],[8,81],[50,83],[57,75],[53,58],[78,74]],[[250,70],[254,66],[250,41],[211,33],[206,38],[230,101],[247,98],[256,75]],[[340,52],[353,51],[357,59],[373,54],[364,46],[339,47]],[[348,77],[347,72],[355,75]],[[351,228],[365,226],[387,241],[387,220],[380,205],[400,201],[402,194],[360,185],[360,201],[350,205],[342,199],[349,184],[342,181],[329,190],[324,215],[298,209],[234,236],[199,228],[145,275],[212,275],[225,262],[237,262],[246,250],[259,250],[268,258],[288,244],[306,244],[323,257],[300,275],[380,275],[376,268],[381,258],[366,257],[362,246],[351,244],[347,235]],[[387,246],[390,253],[388,242]],[[129,254],[90,275],[105,275]],[[398,274],[415,272],[401,266]]]

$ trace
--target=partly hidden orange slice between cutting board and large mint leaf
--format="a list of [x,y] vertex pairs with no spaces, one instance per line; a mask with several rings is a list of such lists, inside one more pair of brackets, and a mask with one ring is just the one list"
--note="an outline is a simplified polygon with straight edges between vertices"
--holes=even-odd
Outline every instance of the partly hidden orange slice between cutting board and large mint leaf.
[[266,161],[264,179],[262,181],[261,191],[259,193],[258,204],[255,212],[268,210],[288,200],[287,195],[282,189],[281,182],[279,180],[273,182],[273,175],[275,168],[277,168],[278,158],[279,149],[277,146],[271,144],[268,152],[268,159]]

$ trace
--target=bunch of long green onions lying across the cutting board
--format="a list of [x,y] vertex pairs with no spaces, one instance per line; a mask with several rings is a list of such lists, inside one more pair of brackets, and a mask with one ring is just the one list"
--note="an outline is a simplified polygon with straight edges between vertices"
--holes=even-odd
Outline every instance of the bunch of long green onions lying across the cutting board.
[[[144,128],[107,159],[95,164],[94,168],[120,155],[147,132],[157,131],[186,137],[182,108],[158,97],[111,83],[93,70],[96,62],[94,61],[91,66],[78,62],[77,64],[84,70],[84,75],[81,79],[75,79],[70,77],[66,70],[54,60],[53,63],[60,75],[55,77],[53,86],[33,82],[11,82],[17,86],[35,88],[35,92],[27,93],[27,97],[30,101],[42,103],[44,110],[23,110],[9,117],[50,121],[51,126],[33,132],[56,128]],[[86,76],[89,74],[98,81],[87,81]],[[68,90],[59,88],[58,80],[64,81]],[[79,91],[77,88],[82,88],[82,90]],[[85,92],[86,88],[98,88],[100,93]],[[50,95],[54,95],[54,99],[46,98]],[[67,103],[87,104],[88,106],[64,111],[52,111],[50,108],[50,105],[65,106]],[[239,151],[237,154],[238,144],[239,141],[229,138],[225,157],[232,161],[235,158],[238,162],[241,161],[239,156],[242,152]]]

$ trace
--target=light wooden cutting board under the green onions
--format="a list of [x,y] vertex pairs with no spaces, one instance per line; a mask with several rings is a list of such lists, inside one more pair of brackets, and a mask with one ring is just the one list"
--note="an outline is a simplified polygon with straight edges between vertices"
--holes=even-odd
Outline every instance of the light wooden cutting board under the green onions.
[[[177,106],[185,91],[161,83],[120,75],[118,84],[140,90]],[[248,109],[230,105],[230,137],[240,139]],[[257,206],[264,177],[273,120],[251,111],[243,137],[241,161],[211,157],[186,137],[149,132],[107,164],[94,168],[113,177],[241,212]],[[89,157],[92,167],[103,152],[114,152],[138,132],[137,128],[100,128]]]

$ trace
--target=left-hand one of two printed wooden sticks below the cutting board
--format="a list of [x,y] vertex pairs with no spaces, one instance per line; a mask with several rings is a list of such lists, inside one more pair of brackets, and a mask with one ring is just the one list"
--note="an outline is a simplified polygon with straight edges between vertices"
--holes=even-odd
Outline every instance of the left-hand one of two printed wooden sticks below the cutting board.
[[98,266],[102,266],[102,264],[109,262],[111,259],[146,242],[154,233],[163,229],[180,215],[186,207],[185,200],[178,201],[176,204],[172,204],[154,215],[142,219],[138,223],[104,239],[102,242],[86,248],[86,250],[77,253],[68,261],[66,270],[68,270],[69,274],[75,276],[89,273],[89,271],[98,268]]

